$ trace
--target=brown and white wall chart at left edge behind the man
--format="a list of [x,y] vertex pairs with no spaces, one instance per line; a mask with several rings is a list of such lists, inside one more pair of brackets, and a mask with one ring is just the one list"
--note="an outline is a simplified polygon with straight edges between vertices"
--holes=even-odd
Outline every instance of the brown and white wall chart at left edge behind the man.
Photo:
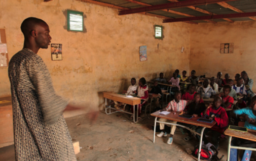
[[5,29],[0,29],[0,67],[8,67],[8,51]]

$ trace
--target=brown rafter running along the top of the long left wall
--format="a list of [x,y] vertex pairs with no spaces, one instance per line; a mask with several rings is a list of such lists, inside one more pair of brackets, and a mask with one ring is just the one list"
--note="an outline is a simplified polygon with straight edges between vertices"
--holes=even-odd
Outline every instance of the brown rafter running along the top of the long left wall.
[[[106,3],[97,2],[97,1],[93,1],[93,0],[76,0],[76,1],[87,2],[87,3],[96,4],[96,5],[100,5],[100,6],[104,6],[104,7],[110,7],[110,8],[119,9],[119,10],[129,10],[129,8],[119,7],[119,6],[116,6],[116,5],[106,4]],[[140,14],[153,16],[153,17],[158,17],[158,18],[162,18],[162,19],[170,19],[170,17],[151,14],[151,13],[146,13],[146,12],[142,12]],[[198,24],[196,22],[190,22],[190,21],[184,21],[184,22],[192,23],[192,24]]]

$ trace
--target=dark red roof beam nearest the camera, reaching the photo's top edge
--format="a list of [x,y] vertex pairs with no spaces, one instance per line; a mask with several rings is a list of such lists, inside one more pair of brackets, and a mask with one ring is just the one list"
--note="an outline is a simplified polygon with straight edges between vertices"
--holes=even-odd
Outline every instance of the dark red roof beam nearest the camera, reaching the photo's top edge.
[[163,9],[214,4],[218,2],[227,2],[227,1],[237,1],[237,0],[187,0],[187,1],[180,1],[180,2],[174,2],[174,3],[168,3],[168,4],[161,4],[161,5],[155,5],[155,6],[149,6],[149,7],[119,11],[119,15],[128,15],[128,14],[135,14],[140,12],[149,12],[149,11],[156,11],[156,10],[163,10]]

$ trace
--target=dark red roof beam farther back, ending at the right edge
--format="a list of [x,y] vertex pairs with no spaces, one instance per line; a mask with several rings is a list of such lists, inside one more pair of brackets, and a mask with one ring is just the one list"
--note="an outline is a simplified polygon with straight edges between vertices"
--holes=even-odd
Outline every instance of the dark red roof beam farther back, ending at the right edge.
[[166,19],[166,20],[163,20],[163,23],[195,21],[195,20],[212,20],[212,19],[224,19],[224,18],[253,17],[253,16],[256,16],[256,12],[224,14],[224,15],[212,15],[212,16],[199,16],[199,17],[186,17],[186,18],[179,18],[179,19]]

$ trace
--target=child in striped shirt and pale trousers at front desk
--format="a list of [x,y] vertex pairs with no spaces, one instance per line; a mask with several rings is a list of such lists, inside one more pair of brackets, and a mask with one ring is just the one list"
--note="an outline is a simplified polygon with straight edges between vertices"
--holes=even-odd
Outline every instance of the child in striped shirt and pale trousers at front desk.
[[[167,107],[161,111],[174,111],[174,112],[180,112],[180,111],[183,111],[188,103],[187,100],[182,100],[180,99],[181,98],[181,92],[180,91],[176,91],[174,93],[174,99],[172,101],[169,102],[169,104],[167,105]],[[167,119],[164,119],[164,118],[160,118],[159,121],[162,121],[162,122],[170,122],[170,123],[173,123],[173,124],[176,124],[177,122],[176,121],[171,121],[171,120],[167,120]],[[162,137],[162,136],[167,136],[167,133],[165,132],[164,130],[164,124],[160,123],[160,130],[161,130],[161,133],[157,134],[158,137]],[[173,135],[174,135],[174,132],[176,130],[176,126],[175,125],[172,125],[171,126],[171,135],[167,141],[167,144],[172,144],[172,141],[173,141]]]

